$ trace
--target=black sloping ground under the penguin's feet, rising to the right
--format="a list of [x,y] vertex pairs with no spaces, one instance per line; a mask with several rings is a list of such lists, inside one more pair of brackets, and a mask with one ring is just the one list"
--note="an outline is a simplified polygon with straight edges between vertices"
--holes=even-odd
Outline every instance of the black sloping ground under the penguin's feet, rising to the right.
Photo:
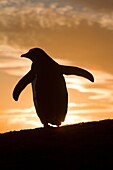
[[0,134],[0,169],[113,168],[113,120]]

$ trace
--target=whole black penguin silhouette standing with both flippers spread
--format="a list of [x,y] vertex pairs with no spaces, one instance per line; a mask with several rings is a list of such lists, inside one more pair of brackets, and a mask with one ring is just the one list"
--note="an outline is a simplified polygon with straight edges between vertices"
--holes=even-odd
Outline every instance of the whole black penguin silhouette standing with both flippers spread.
[[17,83],[13,91],[14,100],[22,90],[32,83],[36,112],[44,127],[60,126],[65,120],[68,108],[68,92],[65,75],[77,75],[94,82],[93,75],[79,67],[59,65],[40,48],[30,49],[21,57],[30,59],[31,70]]

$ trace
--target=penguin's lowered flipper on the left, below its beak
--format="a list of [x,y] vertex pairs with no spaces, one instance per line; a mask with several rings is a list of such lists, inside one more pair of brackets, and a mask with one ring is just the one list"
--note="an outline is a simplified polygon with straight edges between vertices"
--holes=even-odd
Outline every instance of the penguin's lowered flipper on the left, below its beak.
[[18,100],[18,97],[20,95],[20,93],[22,92],[22,90],[33,81],[34,79],[34,74],[32,73],[32,71],[30,70],[22,79],[20,79],[20,81],[17,83],[17,85],[15,86],[14,90],[13,90],[13,98],[15,101]]

